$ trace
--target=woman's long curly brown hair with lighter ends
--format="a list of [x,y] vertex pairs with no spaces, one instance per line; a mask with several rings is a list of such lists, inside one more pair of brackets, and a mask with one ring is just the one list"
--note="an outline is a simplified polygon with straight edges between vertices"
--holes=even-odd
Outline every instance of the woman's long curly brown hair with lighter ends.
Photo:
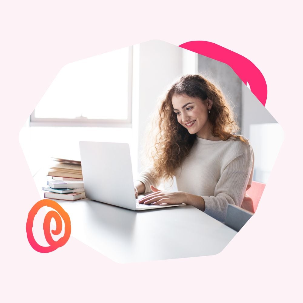
[[224,141],[233,137],[235,140],[246,142],[241,136],[233,134],[239,128],[235,122],[234,112],[222,92],[201,75],[184,75],[170,87],[161,101],[155,121],[157,128],[155,142],[149,150],[153,162],[152,177],[171,179],[175,169],[180,167],[182,161],[189,155],[196,140],[195,134],[191,135],[178,123],[171,103],[173,95],[187,95],[199,98],[201,102],[206,102],[209,98],[213,102],[208,116],[212,135]]

